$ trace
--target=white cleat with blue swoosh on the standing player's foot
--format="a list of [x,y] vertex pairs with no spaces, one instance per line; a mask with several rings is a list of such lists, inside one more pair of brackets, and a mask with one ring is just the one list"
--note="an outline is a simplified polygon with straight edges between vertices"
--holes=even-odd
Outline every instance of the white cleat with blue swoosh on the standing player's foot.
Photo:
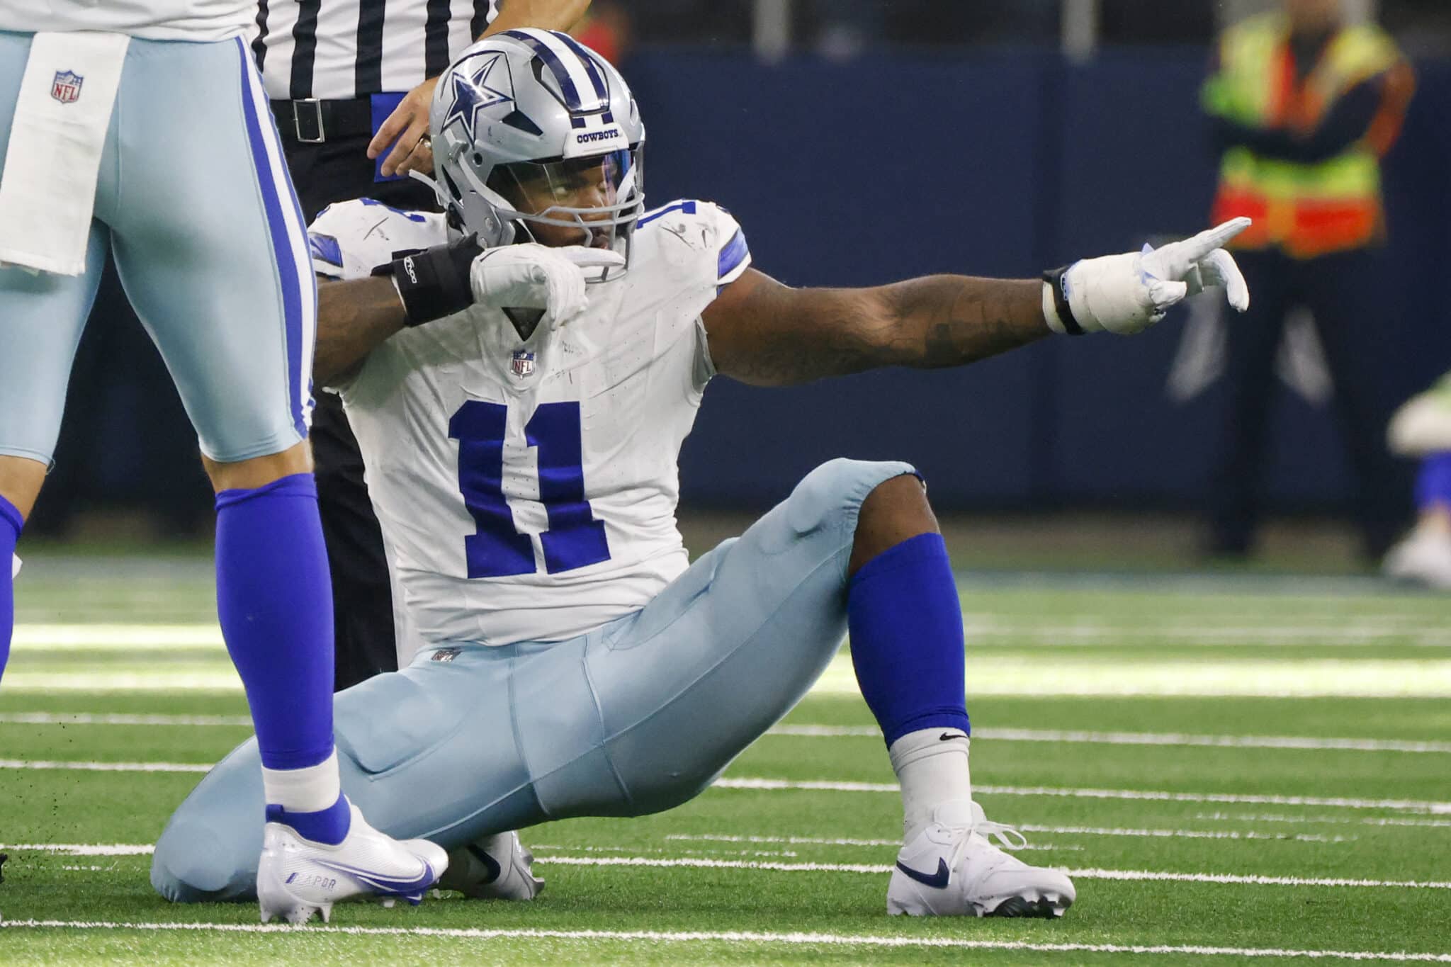
[[342,842],[329,845],[303,839],[280,822],[263,834],[257,866],[257,902],[263,924],[281,916],[306,924],[313,913],[326,922],[332,905],[355,896],[377,896],[386,905],[396,897],[419,903],[424,892],[448,868],[444,848],[427,839],[393,839],[367,825],[358,808]]

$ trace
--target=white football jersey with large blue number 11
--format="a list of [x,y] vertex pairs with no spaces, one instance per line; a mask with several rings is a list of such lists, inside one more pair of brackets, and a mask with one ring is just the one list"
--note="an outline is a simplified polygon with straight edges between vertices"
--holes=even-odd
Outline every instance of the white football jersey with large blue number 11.
[[[338,249],[319,271],[353,277],[405,236],[425,246],[425,223],[377,204],[369,219],[386,225],[344,232],[360,204],[313,226]],[[427,225],[427,245],[447,241],[441,220]],[[676,458],[714,371],[701,312],[749,264],[730,213],[673,202],[640,219],[630,271],[591,286],[562,329],[525,341],[502,312],[473,307],[396,333],[341,381],[424,641],[572,638],[685,570]]]

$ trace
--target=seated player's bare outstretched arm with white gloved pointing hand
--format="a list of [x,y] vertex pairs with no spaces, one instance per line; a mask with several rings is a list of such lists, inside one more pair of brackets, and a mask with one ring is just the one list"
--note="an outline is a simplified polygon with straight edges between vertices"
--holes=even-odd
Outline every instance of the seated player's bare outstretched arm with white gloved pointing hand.
[[1233,219],[1156,249],[1081,260],[1042,280],[927,275],[875,289],[791,289],[747,270],[702,319],[717,373],[757,386],[963,365],[1051,332],[1139,332],[1210,286],[1223,286],[1244,312],[1249,291],[1220,246],[1248,225]]

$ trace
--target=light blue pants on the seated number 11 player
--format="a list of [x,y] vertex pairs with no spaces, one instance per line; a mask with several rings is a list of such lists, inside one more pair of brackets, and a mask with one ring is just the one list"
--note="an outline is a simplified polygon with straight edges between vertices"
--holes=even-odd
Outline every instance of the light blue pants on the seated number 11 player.
[[[910,473],[834,460],[633,615],[553,644],[431,645],[340,693],[342,790],[379,829],[447,848],[686,802],[826,670],[846,634],[858,512]],[[248,739],[171,816],[151,866],[161,896],[254,895],[258,767]]]

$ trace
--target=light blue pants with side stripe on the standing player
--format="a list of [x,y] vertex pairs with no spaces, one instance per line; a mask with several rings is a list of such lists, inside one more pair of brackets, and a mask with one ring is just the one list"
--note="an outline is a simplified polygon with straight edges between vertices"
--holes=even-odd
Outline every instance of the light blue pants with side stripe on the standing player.
[[[0,32],[0,171],[29,51],[29,33]],[[306,222],[241,39],[131,41],[86,273],[0,268],[0,454],[49,462],[107,249],[203,454],[247,460],[303,439],[316,331]]]

